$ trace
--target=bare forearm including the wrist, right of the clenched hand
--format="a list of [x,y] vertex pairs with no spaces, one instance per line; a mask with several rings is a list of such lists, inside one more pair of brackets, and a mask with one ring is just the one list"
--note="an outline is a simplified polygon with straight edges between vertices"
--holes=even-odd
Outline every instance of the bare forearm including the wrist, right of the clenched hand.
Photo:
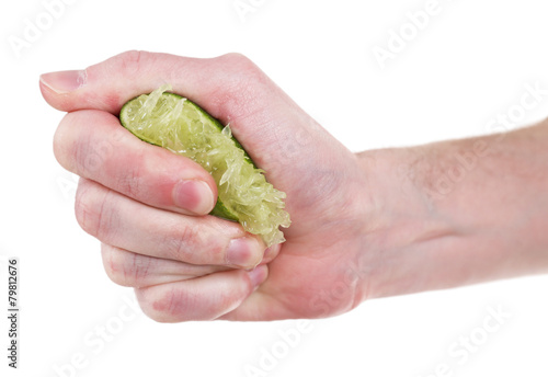
[[548,122],[361,158],[388,260],[375,295],[548,271]]

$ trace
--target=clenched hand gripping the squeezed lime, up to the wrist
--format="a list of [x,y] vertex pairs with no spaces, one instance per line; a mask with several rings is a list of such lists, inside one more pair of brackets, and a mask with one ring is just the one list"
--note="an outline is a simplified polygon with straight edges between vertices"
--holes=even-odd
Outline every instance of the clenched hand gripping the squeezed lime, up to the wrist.
[[[230,123],[269,181],[287,193],[293,225],[284,244],[265,251],[239,225],[203,216],[217,195],[209,174],[119,125],[115,115],[126,101],[162,83]],[[59,163],[82,176],[78,221],[102,241],[109,276],[135,287],[149,317],[318,317],[365,297],[353,277],[329,310],[313,301],[362,249],[367,184],[358,159],[247,58],[130,52],[84,71],[45,75],[41,90],[68,112],[54,147]]]

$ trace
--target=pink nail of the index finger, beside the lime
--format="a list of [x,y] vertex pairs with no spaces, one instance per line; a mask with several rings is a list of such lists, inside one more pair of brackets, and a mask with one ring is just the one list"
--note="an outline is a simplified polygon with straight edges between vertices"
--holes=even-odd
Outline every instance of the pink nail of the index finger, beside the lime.
[[173,202],[180,208],[207,215],[214,206],[212,188],[204,181],[181,181],[173,187]]

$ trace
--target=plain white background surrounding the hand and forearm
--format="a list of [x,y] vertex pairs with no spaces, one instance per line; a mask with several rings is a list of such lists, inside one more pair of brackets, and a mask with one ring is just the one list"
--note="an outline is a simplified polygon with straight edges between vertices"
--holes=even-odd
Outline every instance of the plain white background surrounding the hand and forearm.
[[[23,38],[25,19],[36,23],[45,7],[0,5],[0,253],[20,260],[22,308],[14,372],[4,356],[4,263],[1,376],[62,376],[55,366],[75,357],[84,367],[65,368],[65,376],[247,376],[261,350],[283,350],[278,330],[297,325],[159,324],[126,310],[132,290],[107,279],[99,242],[73,217],[76,184],[52,151],[62,114],[43,101],[39,73],[134,48],[197,57],[239,52],[355,151],[483,134],[491,118],[518,104],[526,83],[548,88],[548,7],[539,0],[439,0],[441,12],[385,69],[373,48],[386,48],[390,30],[425,0],[255,0],[244,21],[233,0],[72,2],[19,57],[9,37]],[[521,124],[547,114],[545,98]],[[365,302],[307,323],[311,331],[286,345],[266,375],[423,377],[446,363],[447,376],[546,376],[547,283],[525,277]],[[488,307],[499,306],[512,318],[459,364],[450,345],[479,334]],[[94,329],[104,324],[117,333],[101,349]]]

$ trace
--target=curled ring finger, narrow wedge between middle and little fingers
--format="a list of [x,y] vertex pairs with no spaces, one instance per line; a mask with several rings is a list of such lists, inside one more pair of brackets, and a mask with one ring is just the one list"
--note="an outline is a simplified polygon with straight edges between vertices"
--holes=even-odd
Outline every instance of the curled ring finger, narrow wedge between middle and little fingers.
[[114,283],[126,287],[138,288],[185,281],[229,270],[141,255],[105,243],[101,244],[101,254],[106,275]]

